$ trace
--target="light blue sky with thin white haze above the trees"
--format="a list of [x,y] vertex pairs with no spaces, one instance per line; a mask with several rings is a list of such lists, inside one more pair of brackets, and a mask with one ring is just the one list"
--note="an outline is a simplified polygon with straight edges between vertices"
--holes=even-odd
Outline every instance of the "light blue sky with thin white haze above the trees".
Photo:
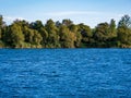
[[8,24],[16,19],[44,24],[49,19],[70,19],[95,27],[111,19],[117,23],[124,14],[131,16],[131,0],[0,0],[0,14]]

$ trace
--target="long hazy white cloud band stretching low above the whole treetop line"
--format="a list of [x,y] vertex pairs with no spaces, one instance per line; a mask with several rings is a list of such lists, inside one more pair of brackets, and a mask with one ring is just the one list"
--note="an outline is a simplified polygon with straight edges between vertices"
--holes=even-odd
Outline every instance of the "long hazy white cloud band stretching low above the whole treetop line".
[[98,23],[103,23],[103,22],[109,23],[111,19],[115,19],[116,23],[118,23],[121,16],[123,15],[124,14],[122,13],[98,12],[98,11],[64,11],[64,12],[47,12],[43,14],[25,16],[28,20],[20,16],[3,16],[3,19],[4,19],[4,22],[7,22],[7,24],[12,23],[16,19],[26,20],[29,22],[41,20],[44,23],[46,23],[46,21],[49,19],[52,19],[53,21],[60,21],[60,22],[63,19],[70,19],[75,24],[84,23],[86,25],[90,25],[91,27],[94,27]]

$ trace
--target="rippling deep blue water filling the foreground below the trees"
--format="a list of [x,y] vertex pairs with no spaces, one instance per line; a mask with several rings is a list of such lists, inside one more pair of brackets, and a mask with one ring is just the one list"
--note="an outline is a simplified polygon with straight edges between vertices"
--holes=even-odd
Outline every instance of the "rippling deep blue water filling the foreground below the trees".
[[0,98],[131,98],[131,49],[0,49]]

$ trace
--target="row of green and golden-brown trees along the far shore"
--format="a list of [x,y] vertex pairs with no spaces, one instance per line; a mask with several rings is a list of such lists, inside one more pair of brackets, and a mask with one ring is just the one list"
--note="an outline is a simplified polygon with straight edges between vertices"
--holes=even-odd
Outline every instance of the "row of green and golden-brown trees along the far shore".
[[131,48],[131,17],[91,28],[71,20],[48,20],[46,24],[15,20],[7,25],[0,15],[0,48]]

